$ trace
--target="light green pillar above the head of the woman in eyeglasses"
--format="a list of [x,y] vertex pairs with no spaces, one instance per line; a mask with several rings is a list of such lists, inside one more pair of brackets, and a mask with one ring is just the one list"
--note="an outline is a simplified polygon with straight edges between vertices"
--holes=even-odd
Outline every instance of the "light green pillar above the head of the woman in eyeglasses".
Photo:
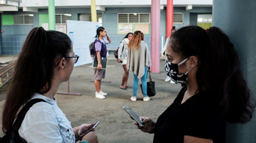
[[49,14],[49,30],[55,30],[55,3],[54,0],[48,1],[48,14]]

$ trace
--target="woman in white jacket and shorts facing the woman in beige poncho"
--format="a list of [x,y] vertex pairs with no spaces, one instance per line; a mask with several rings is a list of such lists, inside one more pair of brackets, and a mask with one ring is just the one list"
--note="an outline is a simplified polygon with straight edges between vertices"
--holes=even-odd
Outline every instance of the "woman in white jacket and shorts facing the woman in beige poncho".
[[129,77],[129,70],[127,69],[127,58],[128,58],[128,43],[131,40],[133,33],[128,33],[122,42],[120,43],[118,49],[118,62],[122,64],[124,68],[124,75],[122,78],[121,89],[132,88],[130,85],[127,85],[128,77]]

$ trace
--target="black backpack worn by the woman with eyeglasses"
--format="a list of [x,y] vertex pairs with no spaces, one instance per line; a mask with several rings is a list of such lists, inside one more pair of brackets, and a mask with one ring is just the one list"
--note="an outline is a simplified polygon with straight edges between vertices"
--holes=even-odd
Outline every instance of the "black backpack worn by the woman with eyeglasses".
[[17,119],[15,120],[12,128],[5,132],[5,136],[0,138],[1,143],[24,143],[24,140],[21,139],[19,135],[19,128],[21,123],[29,110],[37,102],[46,102],[43,99],[32,99],[26,103],[26,105],[19,112]]

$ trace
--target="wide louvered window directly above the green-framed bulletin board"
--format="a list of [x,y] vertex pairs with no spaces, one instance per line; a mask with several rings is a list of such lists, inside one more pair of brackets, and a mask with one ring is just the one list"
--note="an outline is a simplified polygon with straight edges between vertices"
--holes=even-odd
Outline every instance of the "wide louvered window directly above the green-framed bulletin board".
[[118,13],[118,23],[150,23],[150,14]]

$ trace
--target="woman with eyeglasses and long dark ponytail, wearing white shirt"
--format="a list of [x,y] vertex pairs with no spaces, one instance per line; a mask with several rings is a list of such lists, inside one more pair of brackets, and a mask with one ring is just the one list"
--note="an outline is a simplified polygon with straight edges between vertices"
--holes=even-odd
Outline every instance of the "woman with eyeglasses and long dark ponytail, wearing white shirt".
[[[46,102],[35,103],[26,113],[18,130],[21,139],[75,143],[75,138],[92,124],[72,128],[54,95],[59,85],[69,80],[78,58],[66,34],[33,28],[16,60],[3,108],[2,130],[11,129],[16,115],[28,101],[43,99]],[[81,142],[98,143],[98,139],[94,132],[89,132]]]

